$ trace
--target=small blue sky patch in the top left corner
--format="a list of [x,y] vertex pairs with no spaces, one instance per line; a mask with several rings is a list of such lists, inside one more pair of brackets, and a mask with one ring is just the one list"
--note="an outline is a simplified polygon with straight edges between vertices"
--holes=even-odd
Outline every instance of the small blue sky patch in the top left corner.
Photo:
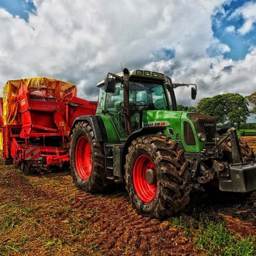
[[36,12],[36,6],[32,0],[0,0],[0,7],[13,16],[18,15],[20,19],[24,19],[26,22],[28,22],[29,13]]

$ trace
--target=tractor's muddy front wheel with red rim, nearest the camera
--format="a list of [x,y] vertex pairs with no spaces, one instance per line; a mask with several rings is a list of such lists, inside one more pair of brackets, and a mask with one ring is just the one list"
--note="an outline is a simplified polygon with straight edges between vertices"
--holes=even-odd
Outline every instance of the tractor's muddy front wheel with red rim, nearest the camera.
[[124,168],[126,189],[140,215],[163,219],[189,202],[189,161],[168,137],[137,138],[129,147]]

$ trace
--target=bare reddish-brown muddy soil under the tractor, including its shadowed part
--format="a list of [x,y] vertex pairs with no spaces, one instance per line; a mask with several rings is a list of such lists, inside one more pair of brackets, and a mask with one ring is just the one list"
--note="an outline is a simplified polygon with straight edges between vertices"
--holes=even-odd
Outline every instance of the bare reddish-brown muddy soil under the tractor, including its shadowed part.
[[[242,204],[216,204],[211,202],[204,190],[194,188],[187,209],[180,215],[197,228],[202,218],[226,219],[227,228],[241,237],[256,235],[256,193]],[[174,217],[160,222],[137,215],[132,209],[126,191],[119,189],[108,195],[90,195],[80,192],[72,202],[79,211],[99,208],[98,215],[88,222],[99,236],[88,237],[102,249],[118,254],[120,249],[130,248],[134,255],[200,255],[191,240],[175,226],[170,227]]]

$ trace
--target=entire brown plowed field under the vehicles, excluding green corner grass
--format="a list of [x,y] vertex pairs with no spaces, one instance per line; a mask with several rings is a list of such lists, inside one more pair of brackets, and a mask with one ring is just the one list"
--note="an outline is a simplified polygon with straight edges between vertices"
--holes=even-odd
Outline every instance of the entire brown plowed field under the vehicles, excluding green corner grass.
[[[137,215],[122,184],[91,195],[74,187],[69,172],[24,175],[0,162],[0,255],[218,255],[200,246],[202,219],[224,221],[238,241],[251,239],[256,193],[241,204],[216,204],[194,188],[186,211],[160,222]],[[255,255],[249,242],[247,255]],[[237,248],[228,255],[239,255]]]

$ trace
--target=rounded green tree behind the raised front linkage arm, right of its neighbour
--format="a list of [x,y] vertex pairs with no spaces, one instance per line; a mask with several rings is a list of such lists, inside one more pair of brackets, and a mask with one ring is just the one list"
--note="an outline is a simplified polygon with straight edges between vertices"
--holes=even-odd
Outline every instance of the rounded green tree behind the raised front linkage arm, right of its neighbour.
[[241,122],[246,122],[250,115],[248,102],[246,98],[238,93],[227,93],[226,97],[226,115],[231,126],[237,124],[237,129],[240,130]]

